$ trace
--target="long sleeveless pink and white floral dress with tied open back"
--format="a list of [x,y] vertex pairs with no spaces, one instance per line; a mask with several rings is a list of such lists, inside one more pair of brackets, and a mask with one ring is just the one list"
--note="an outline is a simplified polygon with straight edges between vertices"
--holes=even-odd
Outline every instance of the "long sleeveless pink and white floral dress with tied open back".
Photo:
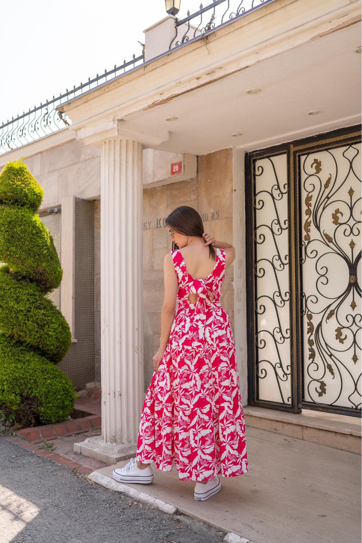
[[[175,465],[182,481],[242,475],[248,463],[236,350],[219,301],[225,250],[216,249],[214,269],[204,280],[188,273],[179,249],[171,252],[177,308],[144,400],[136,459],[162,471]],[[189,293],[198,294],[196,304]]]

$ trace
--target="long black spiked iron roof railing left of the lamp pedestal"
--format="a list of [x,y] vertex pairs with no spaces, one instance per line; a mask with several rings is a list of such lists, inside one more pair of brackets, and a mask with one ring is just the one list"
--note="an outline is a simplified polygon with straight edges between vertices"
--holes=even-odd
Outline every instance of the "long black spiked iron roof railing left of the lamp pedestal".
[[[143,45],[143,44],[142,44]],[[71,98],[80,96],[82,93],[93,89],[120,75],[121,73],[128,72],[136,67],[136,65],[144,62],[144,50],[142,54],[137,56],[134,54],[132,60],[116,66],[110,70],[105,70],[104,73],[98,74],[93,79],[88,78],[86,83],[80,83],[78,87],[74,85],[70,91],[67,89],[65,93],[60,94],[52,100],[46,100],[44,104],[40,103],[40,106],[34,106],[34,109],[29,109],[28,112],[23,112],[23,115],[12,117],[11,121],[2,123],[0,125],[0,154],[7,153],[12,149],[16,149],[38,140],[42,136],[47,136],[56,132],[61,128],[67,127],[70,123],[69,119],[60,111],[56,111],[55,108]]]

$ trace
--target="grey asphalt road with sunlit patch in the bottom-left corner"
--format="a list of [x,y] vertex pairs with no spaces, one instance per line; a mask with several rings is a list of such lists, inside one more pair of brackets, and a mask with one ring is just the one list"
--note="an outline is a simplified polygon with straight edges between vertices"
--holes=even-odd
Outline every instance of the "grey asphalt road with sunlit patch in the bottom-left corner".
[[0,543],[221,543],[225,533],[168,515],[0,437]]

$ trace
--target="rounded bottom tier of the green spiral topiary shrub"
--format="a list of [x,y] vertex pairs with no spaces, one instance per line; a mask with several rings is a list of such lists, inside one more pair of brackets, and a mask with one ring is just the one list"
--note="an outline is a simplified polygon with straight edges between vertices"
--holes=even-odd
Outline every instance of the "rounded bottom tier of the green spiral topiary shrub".
[[59,368],[0,333],[0,406],[20,427],[66,420],[74,407],[72,382]]

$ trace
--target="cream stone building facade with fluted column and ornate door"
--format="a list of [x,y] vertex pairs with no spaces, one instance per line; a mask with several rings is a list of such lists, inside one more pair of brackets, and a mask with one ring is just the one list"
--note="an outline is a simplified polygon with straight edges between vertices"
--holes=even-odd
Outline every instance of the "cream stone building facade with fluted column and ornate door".
[[60,368],[102,388],[103,434],[82,452],[135,448],[164,219],[183,204],[236,247],[221,304],[255,420],[360,416],[360,7],[274,0],[173,48],[166,17],[145,31],[143,64],[63,101],[65,128],[0,156],[25,156],[60,238],[53,295],[73,336]]

